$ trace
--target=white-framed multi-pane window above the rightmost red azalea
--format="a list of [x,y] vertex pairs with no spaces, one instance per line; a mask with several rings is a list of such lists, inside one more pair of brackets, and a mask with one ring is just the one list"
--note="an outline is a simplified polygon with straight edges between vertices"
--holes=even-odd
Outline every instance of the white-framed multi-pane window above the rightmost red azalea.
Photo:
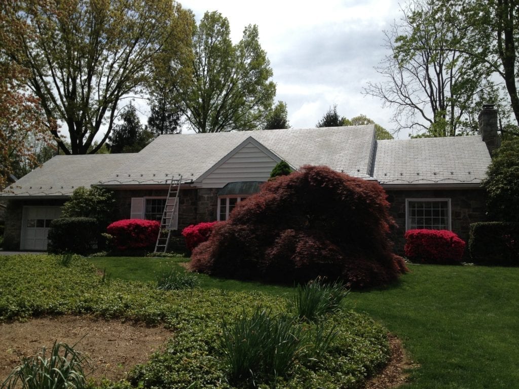
[[450,199],[407,199],[406,230],[450,230]]

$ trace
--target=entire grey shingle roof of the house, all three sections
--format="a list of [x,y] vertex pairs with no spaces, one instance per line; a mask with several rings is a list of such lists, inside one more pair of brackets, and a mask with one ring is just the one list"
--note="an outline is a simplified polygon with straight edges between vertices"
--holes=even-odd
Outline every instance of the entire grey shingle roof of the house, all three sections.
[[295,168],[327,165],[380,184],[479,184],[490,156],[479,135],[374,140],[374,126],[161,135],[137,154],[57,156],[0,193],[4,197],[70,196],[79,186],[195,181],[248,137]]

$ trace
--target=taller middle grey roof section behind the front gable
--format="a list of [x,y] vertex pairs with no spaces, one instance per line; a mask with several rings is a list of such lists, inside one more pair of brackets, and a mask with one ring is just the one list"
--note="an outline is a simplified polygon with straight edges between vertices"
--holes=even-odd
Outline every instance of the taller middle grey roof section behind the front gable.
[[171,175],[198,180],[247,138],[294,168],[327,165],[353,176],[370,176],[375,127],[368,126],[160,135],[103,181],[104,185],[162,184]]

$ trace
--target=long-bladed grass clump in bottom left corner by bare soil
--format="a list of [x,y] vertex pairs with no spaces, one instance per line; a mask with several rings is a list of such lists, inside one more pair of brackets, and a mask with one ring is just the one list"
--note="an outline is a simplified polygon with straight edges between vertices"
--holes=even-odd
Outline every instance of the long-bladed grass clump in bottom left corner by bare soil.
[[2,389],[83,389],[87,387],[82,364],[87,358],[66,343],[54,342],[50,356],[46,348],[22,359],[2,384]]

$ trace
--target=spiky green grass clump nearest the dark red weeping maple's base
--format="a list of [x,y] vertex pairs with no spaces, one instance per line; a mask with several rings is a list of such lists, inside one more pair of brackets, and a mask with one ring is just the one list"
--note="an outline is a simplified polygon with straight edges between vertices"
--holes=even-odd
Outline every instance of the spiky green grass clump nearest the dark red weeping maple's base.
[[349,293],[343,283],[326,283],[321,277],[307,284],[299,284],[296,293],[288,299],[287,309],[299,319],[317,321],[327,313],[340,308],[340,302]]

